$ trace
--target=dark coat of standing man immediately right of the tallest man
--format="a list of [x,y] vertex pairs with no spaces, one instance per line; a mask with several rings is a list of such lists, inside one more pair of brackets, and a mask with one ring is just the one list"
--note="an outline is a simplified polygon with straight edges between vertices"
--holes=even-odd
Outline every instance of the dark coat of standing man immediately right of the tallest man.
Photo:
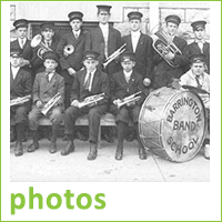
[[[134,70],[143,78],[153,79],[153,48],[152,38],[141,33],[135,49]],[[125,50],[133,52],[131,34],[122,37],[122,44],[127,43]]]

